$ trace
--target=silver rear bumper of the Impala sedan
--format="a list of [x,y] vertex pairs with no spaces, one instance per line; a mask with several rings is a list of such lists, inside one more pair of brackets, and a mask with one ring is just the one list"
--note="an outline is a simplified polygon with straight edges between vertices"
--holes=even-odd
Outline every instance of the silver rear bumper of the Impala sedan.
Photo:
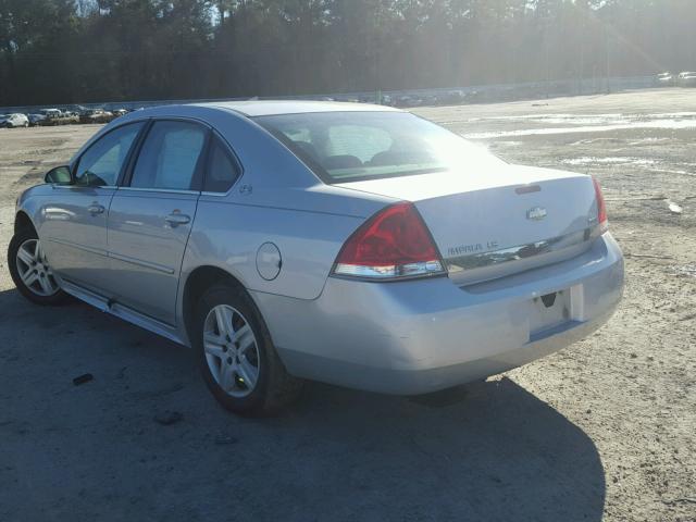
[[[530,303],[560,290],[570,295],[567,318],[539,327]],[[622,290],[621,250],[605,234],[569,261],[463,288],[447,277],[330,277],[315,300],[253,298],[290,373],[415,395],[485,378],[586,337],[611,316]]]

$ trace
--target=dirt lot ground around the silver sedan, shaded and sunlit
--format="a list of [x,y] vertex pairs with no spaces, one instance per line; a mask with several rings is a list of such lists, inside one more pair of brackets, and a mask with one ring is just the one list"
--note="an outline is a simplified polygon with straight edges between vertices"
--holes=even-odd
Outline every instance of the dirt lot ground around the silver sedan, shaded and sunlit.
[[[189,350],[30,306],[2,259],[0,520],[696,520],[696,91],[418,112],[600,179],[627,254],[607,326],[436,397],[313,384],[251,421],[215,405]],[[2,251],[16,196],[97,128],[0,129]]]

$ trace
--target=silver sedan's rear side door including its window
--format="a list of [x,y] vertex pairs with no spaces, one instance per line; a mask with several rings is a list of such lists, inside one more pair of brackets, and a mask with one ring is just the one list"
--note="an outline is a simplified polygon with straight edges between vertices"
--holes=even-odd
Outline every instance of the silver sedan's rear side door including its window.
[[209,134],[191,121],[153,122],[109,213],[114,300],[171,325]]

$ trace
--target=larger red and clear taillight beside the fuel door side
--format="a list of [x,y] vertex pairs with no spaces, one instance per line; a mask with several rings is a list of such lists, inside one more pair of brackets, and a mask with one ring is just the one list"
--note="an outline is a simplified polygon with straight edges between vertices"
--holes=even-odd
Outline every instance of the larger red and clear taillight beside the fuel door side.
[[387,207],[363,223],[341,248],[334,273],[374,279],[442,274],[443,262],[411,203]]

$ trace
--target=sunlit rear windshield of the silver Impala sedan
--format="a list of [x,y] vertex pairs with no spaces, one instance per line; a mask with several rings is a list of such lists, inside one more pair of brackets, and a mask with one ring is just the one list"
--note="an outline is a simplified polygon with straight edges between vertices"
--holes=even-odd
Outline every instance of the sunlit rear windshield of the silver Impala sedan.
[[254,121],[328,184],[470,171],[501,161],[407,112],[315,112]]

